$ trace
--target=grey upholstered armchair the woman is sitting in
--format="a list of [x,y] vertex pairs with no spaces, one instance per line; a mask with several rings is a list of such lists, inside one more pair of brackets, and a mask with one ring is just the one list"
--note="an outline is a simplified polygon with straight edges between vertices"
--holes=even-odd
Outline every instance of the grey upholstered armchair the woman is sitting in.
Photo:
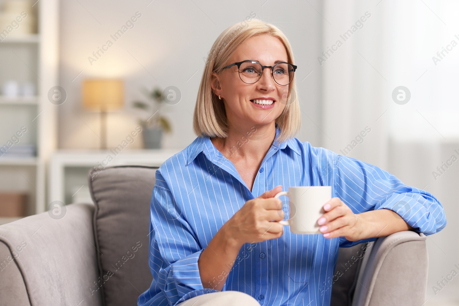
[[[90,173],[95,205],[68,205],[61,219],[44,212],[1,225],[0,304],[137,305],[152,280],[148,228],[156,169]],[[425,239],[400,232],[341,248],[331,305],[422,305]]]

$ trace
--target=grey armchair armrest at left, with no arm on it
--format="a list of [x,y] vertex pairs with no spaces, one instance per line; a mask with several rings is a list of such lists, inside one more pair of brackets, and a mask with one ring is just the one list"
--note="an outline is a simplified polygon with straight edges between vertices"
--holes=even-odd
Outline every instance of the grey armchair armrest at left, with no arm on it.
[[0,226],[2,305],[102,305],[94,206],[66,209],[59,220],[43,212]]

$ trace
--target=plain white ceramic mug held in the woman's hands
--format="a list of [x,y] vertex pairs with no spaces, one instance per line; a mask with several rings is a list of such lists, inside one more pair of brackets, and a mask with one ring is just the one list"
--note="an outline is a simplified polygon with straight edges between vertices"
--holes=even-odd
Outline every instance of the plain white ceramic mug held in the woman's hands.
[[289,197],[290,219],[279,221],[289,225],[293,234],[322,234],[317,220],[325,213],[323,206],[331,199],[331,186],[294,186],[281,195]]

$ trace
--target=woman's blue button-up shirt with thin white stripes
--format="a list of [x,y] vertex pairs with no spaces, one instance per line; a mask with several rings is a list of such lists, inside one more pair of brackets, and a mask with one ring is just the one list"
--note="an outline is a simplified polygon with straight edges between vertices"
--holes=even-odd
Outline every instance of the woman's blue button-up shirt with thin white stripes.
[[[445,227],[443,207],[429,192],[407,186],[378,167],[297,138],[279,143],[279,132],[276,124],[276,138],[252,192],[208,137],[197,137],[157,169],[150,214],[153,281],[139,296],[139,306],[172,306],[217,292],[202,285],[197,263],[202,250],[246,201],[277,185],[283,190],[332,186],[332,197],[341,198],[354,213],[391,209],[426,235]],[[288,198],[283,199],[287,219]],[[260,305],[328,306],[338,248],[373,240],[292,234],[285,226],[280,238],[241,248],[223,290],[245,292]]]

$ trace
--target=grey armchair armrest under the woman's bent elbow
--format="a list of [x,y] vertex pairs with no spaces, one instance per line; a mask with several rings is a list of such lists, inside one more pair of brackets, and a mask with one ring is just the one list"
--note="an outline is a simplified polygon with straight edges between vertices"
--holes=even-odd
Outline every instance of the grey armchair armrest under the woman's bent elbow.
[[403,231],[373,242],[364,256],[352,305],[424,305],[426,239],[422,233]]

